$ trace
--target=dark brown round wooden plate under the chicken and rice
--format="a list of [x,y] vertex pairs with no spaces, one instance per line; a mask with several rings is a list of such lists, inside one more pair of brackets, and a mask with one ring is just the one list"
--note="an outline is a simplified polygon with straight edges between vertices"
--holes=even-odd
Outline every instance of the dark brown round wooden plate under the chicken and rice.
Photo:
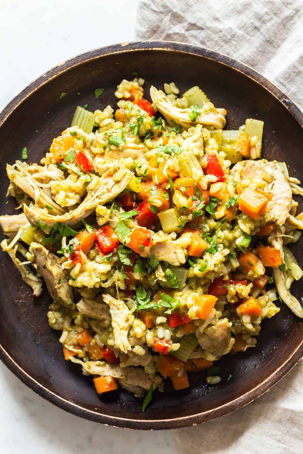
[[[0,213],[15,213],[5,205],[8,179],[5,163],[21,158],[40,161],[52,138],[70,126],[75,106],[88,109],[116,105],[114,90],[138,70],[158,88],[174,81],[182,90],[199,85],[218,107],[228,111],[226,128],[238,128],[245,118],[264,120],[263,154],[286,161],[290,174],[303,177],[303,115],[278,88],[260,74],[229,57],[187,44],[141,42],[117,44],[68,60],[35,80],[0,114]],[[96,100],[94,89],[104,87]],[[59,99],[62,92],[66,96]],[[301,207],[302,209],[302,207]],[[302,242],[293,247],[302,265]],[[302,283],[293,287],[300,299]],[[28,286],[6,254],[1,254],[0,357],[26,385],[64,410],[103,424],[133,429],[170,429],[209,421],[258,398],[278,382],[303,354],[303,323],[281,304],[281,311],[262,323],[258,346],[219,361],[222,382],[207,386],[204,373],[190,374],[190,388],[154,393],[152,405],[124,390],[100,398],[91,377],[64,361],[59,334],[50,329],[47,291],[33,301]],[[280,303],[278,302],[278,305]],[[227,381],[228,375],[232,375]]]

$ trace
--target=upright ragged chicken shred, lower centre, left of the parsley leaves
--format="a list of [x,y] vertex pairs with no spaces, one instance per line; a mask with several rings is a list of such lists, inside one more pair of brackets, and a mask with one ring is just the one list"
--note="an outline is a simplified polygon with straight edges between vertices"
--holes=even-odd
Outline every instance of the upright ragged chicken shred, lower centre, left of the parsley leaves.
[[133,324],[134,316],[123,301],[116,300],[108,294],[103,295],[103,300],[109,305],[115,346],[123,353],[127,353],[131,350],[127,335]]

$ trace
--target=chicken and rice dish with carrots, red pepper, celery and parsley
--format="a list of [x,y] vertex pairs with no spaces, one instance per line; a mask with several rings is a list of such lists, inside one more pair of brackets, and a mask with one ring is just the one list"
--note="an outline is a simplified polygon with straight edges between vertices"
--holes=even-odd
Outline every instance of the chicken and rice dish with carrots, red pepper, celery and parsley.
[[47,286],[62,358],[100,395],[145,395],[144,411],[166,378],[182,390],[206,370],[219,383],[216,361],[256,345],[277,299],[303,317],[288,248],[303,191],[261,157],[262,121],[224,130],[226,110],[199,87],[152,86],[150,103],[143,84],[123,80],[115,112],[78,107],[40,164],[24,148],[7,165],[20,213],[0,224],[33,295]]

